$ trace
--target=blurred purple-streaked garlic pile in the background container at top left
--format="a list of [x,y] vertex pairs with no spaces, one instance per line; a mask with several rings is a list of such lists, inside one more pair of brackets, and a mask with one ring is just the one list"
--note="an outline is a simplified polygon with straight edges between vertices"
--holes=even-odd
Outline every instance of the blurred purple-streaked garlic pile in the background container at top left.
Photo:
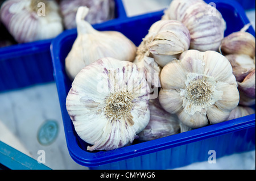
[[76,28],[79,6],[90,7],[86,20],[91,24],[115,16],[114,0],[5,0],[0,6],[0,21],[15,43],[52,39],[64,30]]

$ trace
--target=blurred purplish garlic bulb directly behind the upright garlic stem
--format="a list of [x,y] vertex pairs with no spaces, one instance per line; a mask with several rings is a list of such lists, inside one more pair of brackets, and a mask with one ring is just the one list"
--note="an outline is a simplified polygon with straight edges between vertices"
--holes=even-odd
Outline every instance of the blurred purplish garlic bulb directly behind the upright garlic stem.
[[60,11],[66,29],[76,28],[76,12],[80,6],[89,8],[85,20],[90,24],[102,23],[114,18],[114,0],[61,0]]

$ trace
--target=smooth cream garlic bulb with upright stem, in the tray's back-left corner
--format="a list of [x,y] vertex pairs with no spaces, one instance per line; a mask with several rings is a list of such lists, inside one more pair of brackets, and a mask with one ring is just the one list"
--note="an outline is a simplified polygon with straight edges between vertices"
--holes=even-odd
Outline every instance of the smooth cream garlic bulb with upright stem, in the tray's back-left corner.
[[69,78],[102,57],[113,57],[123,61],[133,61],[137,47],[118,31],[97,31],[84,20],[87,7],[79,7],[76,15],[77,38],[65,58],[65,68]]

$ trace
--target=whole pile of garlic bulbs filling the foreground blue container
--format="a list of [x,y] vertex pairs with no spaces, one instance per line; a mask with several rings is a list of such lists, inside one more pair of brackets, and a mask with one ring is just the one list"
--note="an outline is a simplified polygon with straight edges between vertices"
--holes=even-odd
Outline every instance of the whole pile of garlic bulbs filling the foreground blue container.
[[[207,6],[203,0],[173,0],[137,48],[127,43],[122,49],[130,55],[124,59],[109,54],[108,45],[127,38],[93,30],[77,12],[81,33],[69,52],[73,58],[65,60],[69,77],[72,66],[77,70],[66,106],[88,150],[117,149],[255,113],[247,107],[255,104],[255,37],[243,29],[224,38],[224,19],[211,6],[216,16],[209,21]],[[99,57],[86,61],[90,54]],[[152,87],[160,90],[156,98]]]

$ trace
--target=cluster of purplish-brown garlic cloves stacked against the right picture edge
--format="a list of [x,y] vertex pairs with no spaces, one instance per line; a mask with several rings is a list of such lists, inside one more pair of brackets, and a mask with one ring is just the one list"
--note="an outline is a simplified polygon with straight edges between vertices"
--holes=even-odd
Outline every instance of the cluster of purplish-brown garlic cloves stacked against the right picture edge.
[[247,28],[226,36],[220,45],[236,76],[242,106],[255,104],[255,37],[245,32]]

